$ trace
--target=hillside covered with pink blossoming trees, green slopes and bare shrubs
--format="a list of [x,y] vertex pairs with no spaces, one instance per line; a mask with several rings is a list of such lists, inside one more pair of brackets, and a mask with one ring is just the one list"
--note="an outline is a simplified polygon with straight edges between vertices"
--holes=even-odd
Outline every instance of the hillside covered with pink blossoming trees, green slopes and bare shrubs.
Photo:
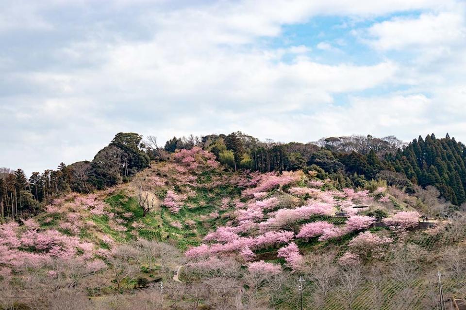
[[[437,196],[177,150],[0,228],[3,309],[436,309],[465,297],[466,226]],[[176,272],[175,280],[173,272]],[[178,282],[181,281],[181,282]]]

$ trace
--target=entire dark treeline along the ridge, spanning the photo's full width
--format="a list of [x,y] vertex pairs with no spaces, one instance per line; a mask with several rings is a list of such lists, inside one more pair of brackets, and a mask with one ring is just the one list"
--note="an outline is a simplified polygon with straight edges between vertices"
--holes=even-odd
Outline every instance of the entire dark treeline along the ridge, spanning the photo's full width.
[[178,149],[200,147],[216,155],[224,167],[251,171],[317,171],[337,187],[364,187],[373,179],[414,191],[414,185],[435,186],[455,205],[466,202],[466,149],[461,142],[429,135],[409,144],[394,136],[323,138],[316,142],[260,141],[241,132],[203,137],[173,137],[164,147],[153,136],[118,133],[92,161],[60,164],[57,170],[0,170],[1,217],[33,213],[41,204],[69,192],[89,193],[127,182]]

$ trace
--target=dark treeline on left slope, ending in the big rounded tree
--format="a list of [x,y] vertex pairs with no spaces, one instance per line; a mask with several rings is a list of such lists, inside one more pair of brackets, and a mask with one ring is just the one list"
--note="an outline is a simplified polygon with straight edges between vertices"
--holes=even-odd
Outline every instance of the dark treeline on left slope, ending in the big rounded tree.
[[[126,182],[149,167],[153,151],[135,133],[118,133],[94,159],[71,165],[61,163],[56,170],[33,172],[0,170],[0,215],[18,218],[33,214],[40,205],[70,192],[89,193]],[[152,157],[152,159],[154,159]]]

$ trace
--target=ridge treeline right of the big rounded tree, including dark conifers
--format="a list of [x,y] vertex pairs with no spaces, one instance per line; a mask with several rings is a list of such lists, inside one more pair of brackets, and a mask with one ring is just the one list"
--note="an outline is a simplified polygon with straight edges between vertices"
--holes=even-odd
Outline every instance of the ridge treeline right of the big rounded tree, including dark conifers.
[[466,148],[449,135],[428,135],[406,144],[394,136],[322,138],[312,143],[277,143],[241,132],[229,135],[176,138],[164,151],[199,146],[211,151],[231,169],[255,171],[314,170],[338,187],[364,187],[383,179],[414,192],[414,186],[435,186],[455,205],[466,202]]

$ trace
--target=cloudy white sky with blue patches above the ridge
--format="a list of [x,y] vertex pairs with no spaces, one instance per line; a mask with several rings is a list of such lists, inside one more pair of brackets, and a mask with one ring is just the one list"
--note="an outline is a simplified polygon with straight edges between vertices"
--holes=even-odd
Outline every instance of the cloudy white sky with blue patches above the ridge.
[[0,167],[118,132],[466,142],[464,0],[3,0]]

